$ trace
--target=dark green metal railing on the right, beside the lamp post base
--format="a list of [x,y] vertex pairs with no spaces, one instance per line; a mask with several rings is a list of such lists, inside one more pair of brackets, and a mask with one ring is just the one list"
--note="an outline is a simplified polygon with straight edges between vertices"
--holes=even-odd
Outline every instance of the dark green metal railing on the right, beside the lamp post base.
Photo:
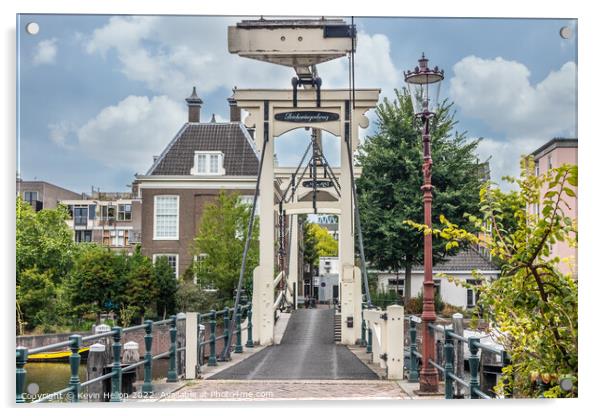
[[[416,334],[417,329],[416,326],[421,320],[416,319],[414,316],[406,316],[405,319],[410,323],[410,346],[409,346],[409,374],[408,380],[410,382],[418,381],[418,359],[422,359],[422,354],[420,354],[416,347]],[[510,358],[504,349],[495,348],[491,345],[484,344],[480,341],[479,337],[464,337],[463,335],[456,334],[451,329],[446,329],[445,327],[441,327],[437,324],[429,323],[428,328],[430,330],[442,333],[444,335],[444,360],[443,365],[438,364],[432,359],[428,360],[428,365],[433,366],[437,369],[442,375],[445,381],[445,398],[453,399],[453,389],[454,383],[457,383],[468,390],[468,396],[471,399],[492,399],[493,397],[489,396],[483,390],[481,390],[481,383],[479,380],[479,365],[480,365],[480,357],[479,350],[490,352],[492,354],[497,354],[502,358],[502,366],[507,367],[510,365]],[[457,374],[454,373],[454,356],[455,356],[455,343],[461,342],[468,346],[470,355],[468,358],[468,364],[470,367],[470,381],[466,382],[461,377],[458,377]],[[511,397],[512,392],[507,395],[507,397]]]

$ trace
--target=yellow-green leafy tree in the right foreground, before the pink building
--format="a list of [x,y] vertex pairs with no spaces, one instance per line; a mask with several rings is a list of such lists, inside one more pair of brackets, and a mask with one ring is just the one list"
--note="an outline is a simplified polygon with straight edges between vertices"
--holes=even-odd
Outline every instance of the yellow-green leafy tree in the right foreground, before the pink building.
[[[551,249],[562,241],[577,246],[577,224],[568,216],[567,203],[576,196],[577,166],[563,165],[536,176],[533,160],[528,158],[522,161],[520,179],[508,179],[519,187],[512,198],[491,184],[482,188],[481,215],[468,216],[479,235],[445,217],[441,218],[442,229],[414,226],[432,231],[448,245],[464,241],[482,244],[502,263],[498,279],[481,278],[480,285],[472,286],[480,292],[479,306],[491,324],[492,335],[512,361],[503,369],[497,391],[504,393],[512,387],[515,395],[523,397],[541,393],[545,397],[576,397],[577,284],[571,274],[560,271],[558,266],[564,259],[552,256]],[[518,200],[508,205],[515,197]],[[540,213],[525,209],[536,204],[543,207]],[[504,213],[511,210],[514,229],[504,221]],[[571,390],[560,388],[562,378],[573,380]]]

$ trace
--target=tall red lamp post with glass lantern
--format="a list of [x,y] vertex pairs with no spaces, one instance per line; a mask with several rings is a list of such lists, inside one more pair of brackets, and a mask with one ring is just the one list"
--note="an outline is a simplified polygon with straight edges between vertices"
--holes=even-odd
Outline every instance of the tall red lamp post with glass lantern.
[[[432,227],[431,206],[433,202],[433,185],[431,184],[431,135],[430,123],[435,115],[434,110],[439,99],[439,89],[443,80],[443,71],[438,67],[428,67],[428,59],[422,54],[418,66],[413,71],[404,72],[408,85],[414,115],[422,122],[423,185],[420,188],[424,202],[424,223]],[[424,283],[422,303],[422,369],[420,370],[420,392],[435,393],[438,391],[437,370],[429,363],[435,358],[435,341],[429,324],[437,318],[435,314],[435,294],[433,282],[433,237],[431,233],[424,235]]]

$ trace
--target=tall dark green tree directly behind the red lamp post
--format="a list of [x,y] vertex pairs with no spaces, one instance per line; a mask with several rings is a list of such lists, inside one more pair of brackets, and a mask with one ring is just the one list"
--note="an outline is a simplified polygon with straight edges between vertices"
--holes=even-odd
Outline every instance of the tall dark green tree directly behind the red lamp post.
[[[433,216],[444,214],[467,225],[463,214],[478,212],[482,164],[475,155],[478,140],[454,132],[453,105],[444,102],[432,128]],[[405,220],[423,222],[422,140],[415,126],[407,91],[376,109],[378,131],[359,149],[362,176],[357,180],[358,205],[366,260],[372,267],[398,273],[405,270],[405,300],[411,295],[412,266],[423,261],[423,237]],[[436,264],[447,253],[433,244]]]

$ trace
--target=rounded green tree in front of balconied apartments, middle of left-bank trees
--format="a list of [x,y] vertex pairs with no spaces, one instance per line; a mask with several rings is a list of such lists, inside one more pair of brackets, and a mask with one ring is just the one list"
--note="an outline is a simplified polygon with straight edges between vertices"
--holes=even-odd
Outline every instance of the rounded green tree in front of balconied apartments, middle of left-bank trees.
[[95,244],[82,247],[69,281],[71,304],[76,313],[95,313],[99,324],[102,312],[116,310],[119,295],[124,293],[119,279],[120,257]]

